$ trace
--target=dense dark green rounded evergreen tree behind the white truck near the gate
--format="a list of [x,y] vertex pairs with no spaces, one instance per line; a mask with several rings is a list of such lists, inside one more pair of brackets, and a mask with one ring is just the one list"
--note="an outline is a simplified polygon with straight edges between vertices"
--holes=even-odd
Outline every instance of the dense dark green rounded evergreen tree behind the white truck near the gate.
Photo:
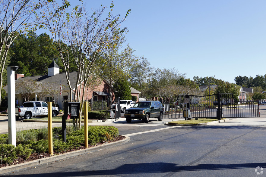
[[120,97],[120,100],[130,100],[131,99],[131,89],[128,81],[125,79],[118,79],[113,88],[116,92],[116,98]]

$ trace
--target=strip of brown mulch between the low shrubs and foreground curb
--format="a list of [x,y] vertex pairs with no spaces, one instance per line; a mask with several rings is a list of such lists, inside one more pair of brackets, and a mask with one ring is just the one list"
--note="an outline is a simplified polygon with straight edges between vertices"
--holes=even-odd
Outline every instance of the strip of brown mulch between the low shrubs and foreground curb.
[[[107,143],[119,141],[119,140],[122,140],[124,138],[125,138],[124,136],[119,135],[118,137],[114,138],[113,141],[100,142],[100,143],[97,143],[96,145],[90,145],[89,144],[89,147],[95,147],[95,146],[98,146],[98,145],[101,145],[101,144],[107,144]],[[68,150],[68,151],[65,151],[65,152],[62,152],[62,153],[53,153],[53,154],[64,154],[64,153],[67,153],[67,152],[77,151],[77,150],[80,150],[80,149],[86,149],[84,144],[81,145],[80,147],[76,147],[76,148],[74,148],[72,150]],[[18,159],[16,161],[14,161],[12,164],[1,164],[1,167],[15,165],[15,164],[24,163],[24,162],[30,162],[32,160],[43,159],[45,157],[50,157],[50,154],[48,154],[48,153],[33,153],[26,160],[24,158],[22,158],[22,157],[18,157]]]

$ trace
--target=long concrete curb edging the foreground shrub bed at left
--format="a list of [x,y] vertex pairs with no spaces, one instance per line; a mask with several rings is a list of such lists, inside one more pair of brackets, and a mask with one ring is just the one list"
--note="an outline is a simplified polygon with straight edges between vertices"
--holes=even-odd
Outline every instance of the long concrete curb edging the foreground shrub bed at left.
[[[124,135],[122,135],[122,136],[124,136]],[[59,155],[55,155],[55,156],[51,156],[51,157],[46,157],[46,158],[43,158],[43,159],[33,160],[33,161],[30,161],[30,162],[20,163],[20,164],[11,165],[11,166],[5,166],[5,167],[0,168],[0,174],[14,172],[14,171],[17,171],[17,170],[30,168],[30,167],[33,167],[33,166],[38,166],[38,165],[41,165],[41,164],[44,164],[44,163],[53,163],[53,162],[58,161],[58,160],[63,160],[63,159],[79,156],[79,155],[82,155],[82,154],[88,154],[90,152],[95,152],[95,151],[99,151],[99,150],[102,150],[102,149],[106,149],[108,147],[116,146],[116,145],[119,145],[119,144],[124,144],[124,143],[128,142],[129,140],[130,140],[130,137],[125,136],[125,138],[120,140],[120,141],[106,143],[106,144],[98,145],[98,146],[95,146],[95,147],[89,147],[89,148],[81,149],[81,150],[78,150],[78,151],[67,152],[67,153],[64,153],[64,154],[59,154]]]

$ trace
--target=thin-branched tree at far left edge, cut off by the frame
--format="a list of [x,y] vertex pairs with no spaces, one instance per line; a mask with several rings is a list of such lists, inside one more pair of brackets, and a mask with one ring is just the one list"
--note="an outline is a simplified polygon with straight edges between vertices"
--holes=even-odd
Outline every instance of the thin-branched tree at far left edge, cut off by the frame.
[[42,16],[37,12],[42,7],[41,3],[33,0],[0,0],[0,93],[8,49],[17,36],[42,27],[42,21],[36,20]]

